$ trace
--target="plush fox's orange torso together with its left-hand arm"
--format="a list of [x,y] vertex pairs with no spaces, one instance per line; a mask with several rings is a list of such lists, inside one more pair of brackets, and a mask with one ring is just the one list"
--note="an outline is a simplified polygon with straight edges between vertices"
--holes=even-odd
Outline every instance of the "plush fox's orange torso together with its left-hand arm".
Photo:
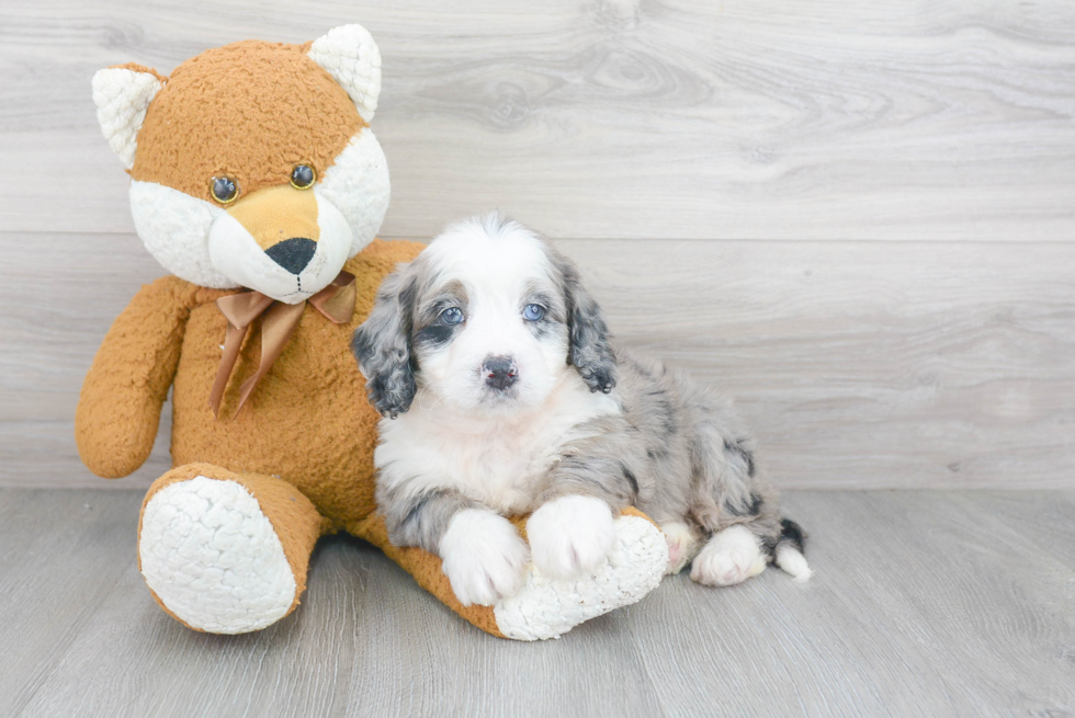
[[227,320],[214,301],[234,290],[176,277],[147,285],[109,330],[82,386],[76,436],[82,460],[100,476],[126,476],[152,448],[160,406],[174,380],[172,459],[276,475],[318,508],[332,531],[374,510],[377,413],[351,356],[351,333],[373,307],[381,280],[422,246],[374,241],[346,264],[357,277],[350,323],[307,308],[298,328],[234,419],[239,387],[257,371],[259,327],[248,333],[214,419],[210,388]]

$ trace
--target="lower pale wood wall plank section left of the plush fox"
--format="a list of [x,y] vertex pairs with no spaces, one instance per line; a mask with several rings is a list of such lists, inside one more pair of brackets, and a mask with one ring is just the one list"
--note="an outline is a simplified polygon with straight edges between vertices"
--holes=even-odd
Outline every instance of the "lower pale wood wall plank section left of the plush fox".
[[[0,232],[0,246],[12,258],[0,283],[0,485],[148,487],[171,465],[170,403],[150,459],[122,481],[99,479],[81,465],[75,407],[113,320],[143,284],[167,272],[135,235],[30,241]],[[43,266],[43,258],[64,259]]]

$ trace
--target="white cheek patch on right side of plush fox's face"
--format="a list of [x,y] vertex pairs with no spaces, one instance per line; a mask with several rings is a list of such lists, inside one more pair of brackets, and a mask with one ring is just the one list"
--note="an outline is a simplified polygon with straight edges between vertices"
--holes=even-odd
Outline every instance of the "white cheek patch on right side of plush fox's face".
[[392,183],[388,161],[372,129],[366,127],[351,138],[314,192],[331,202],[351,227],[350,257],[373,241],[388,210]]

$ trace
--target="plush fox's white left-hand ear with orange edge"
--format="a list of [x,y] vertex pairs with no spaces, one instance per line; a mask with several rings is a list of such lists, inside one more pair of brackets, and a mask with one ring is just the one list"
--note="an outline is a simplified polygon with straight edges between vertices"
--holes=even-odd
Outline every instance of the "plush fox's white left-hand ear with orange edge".
[[98,70],[93,76],[93,104],[109,147],[129,170],[134,167],[136,139],[154,96],[165,78],[140,65]]

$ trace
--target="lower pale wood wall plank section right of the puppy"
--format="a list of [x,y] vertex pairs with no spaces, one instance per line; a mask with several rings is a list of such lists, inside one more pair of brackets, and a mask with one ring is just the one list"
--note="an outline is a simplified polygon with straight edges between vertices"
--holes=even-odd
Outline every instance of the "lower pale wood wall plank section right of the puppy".
[[563,242],[789,488],[1072,487],[1075,247]]

